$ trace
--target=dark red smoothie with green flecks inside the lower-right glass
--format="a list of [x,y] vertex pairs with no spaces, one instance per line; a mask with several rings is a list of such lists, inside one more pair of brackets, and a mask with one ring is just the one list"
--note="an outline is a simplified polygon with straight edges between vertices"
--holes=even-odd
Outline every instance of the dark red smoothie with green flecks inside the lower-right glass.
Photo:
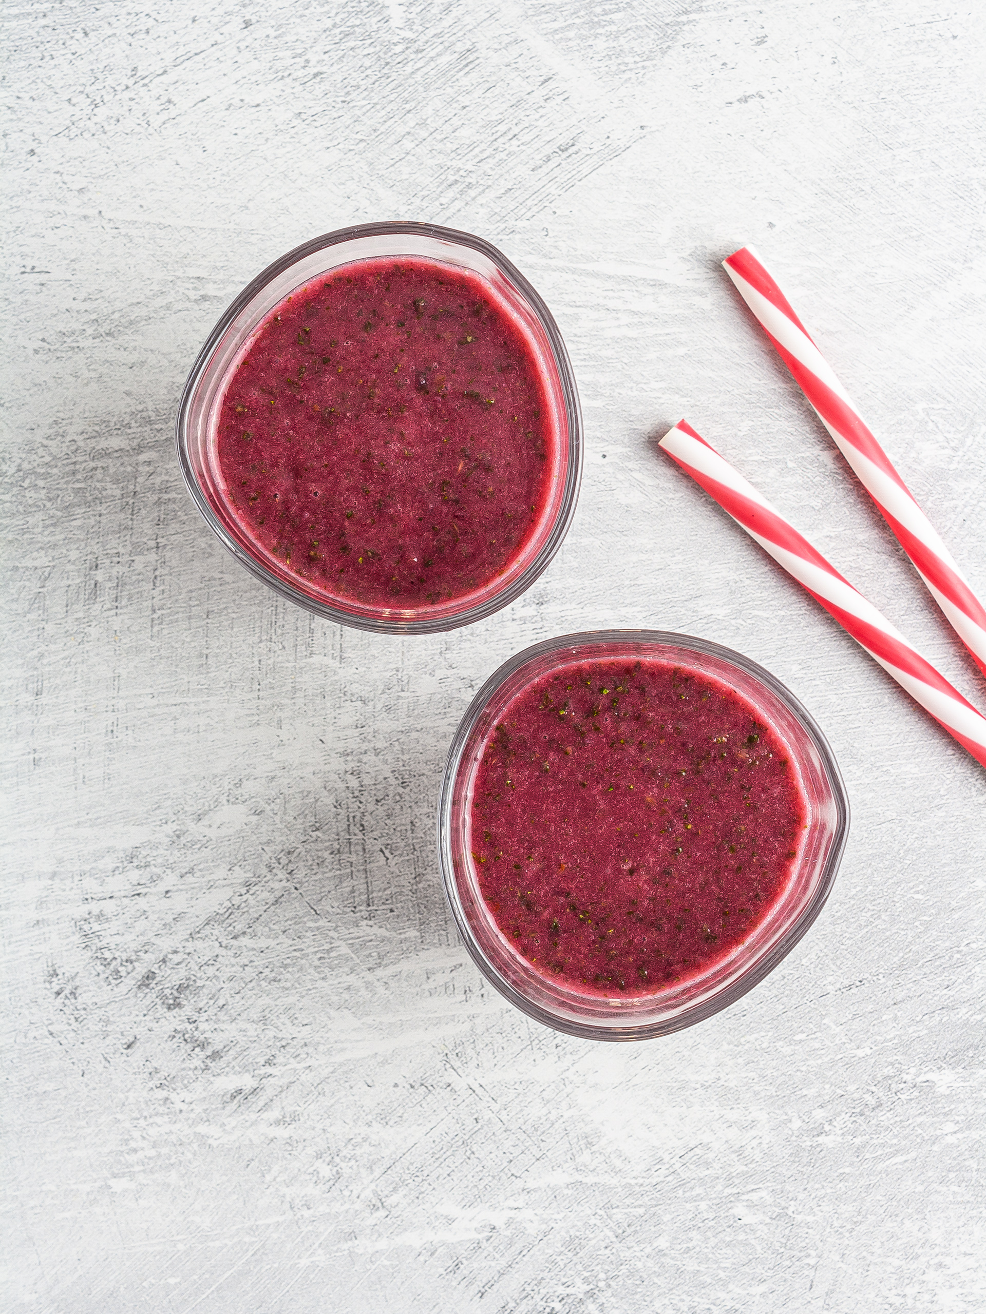
[[628,997],[694,978],[782,894],[806,824],[751,703],[670,661],[577,661],[507,706],[471,848],[501,932],[542,975]]

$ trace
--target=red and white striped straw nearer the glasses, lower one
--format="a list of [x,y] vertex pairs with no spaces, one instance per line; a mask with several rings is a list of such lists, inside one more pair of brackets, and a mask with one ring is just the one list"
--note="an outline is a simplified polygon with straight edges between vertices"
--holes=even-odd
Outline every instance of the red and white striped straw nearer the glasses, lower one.
[[861,593],[816,552],[766,498],[682,419],[660,442],[664,451],[741,524],[774,561],[820,602],[857,644],[915,702],[986,766],[986,717],[894,629]]

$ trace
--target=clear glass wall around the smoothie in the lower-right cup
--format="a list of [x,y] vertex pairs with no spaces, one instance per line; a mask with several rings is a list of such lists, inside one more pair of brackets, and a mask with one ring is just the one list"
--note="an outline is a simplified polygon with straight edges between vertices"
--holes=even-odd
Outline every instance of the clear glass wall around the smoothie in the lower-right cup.
[[[789,753],[806,802],[807,832],[780,899],[747,941],[694,978],[653,995],[602,999],[542,976],[497,926],[471,859],[469,813],[482,750],[507,706],[548,671],[586,660],[664,658],[735,689]],[[761,982],[818,917],[832,888],[849,833],[849,799],[824,735],[798,699],[740,653],[688,635],[610,629],[535,644],[497,670],[463,717],[448,752],[438,811],[438,850],[446,895],[473,962],[530,1017],[572,1035],[640,1041],[665,1035],[732,1004]]]

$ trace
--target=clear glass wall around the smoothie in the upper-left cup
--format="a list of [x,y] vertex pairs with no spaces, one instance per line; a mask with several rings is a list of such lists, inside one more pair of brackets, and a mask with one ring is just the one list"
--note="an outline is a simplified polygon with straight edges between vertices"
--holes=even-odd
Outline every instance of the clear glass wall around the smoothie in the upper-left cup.
[[[296,288],[350,264],[421,256],[469,269],[489,281],[526,331],[551,403],[556,442],[552,486],[527,543],[496,579],[460,598],[414,608],[363,606],[335,598],[285,569],[246,533],[223,497],[216,452],[218,411],[231,368],[267,314]],[[518,598],[560,548],[575,514],[582,472],[582,418],[568,352],[551,311],[496,247],[469,233],[434,223],[359,223],[314,238],[275,260],[241,292],[199,353],[177,413],[177,455],[185,484],[220,541],[251,574],[283,598],[358,629],[435,633],[469,624]]]

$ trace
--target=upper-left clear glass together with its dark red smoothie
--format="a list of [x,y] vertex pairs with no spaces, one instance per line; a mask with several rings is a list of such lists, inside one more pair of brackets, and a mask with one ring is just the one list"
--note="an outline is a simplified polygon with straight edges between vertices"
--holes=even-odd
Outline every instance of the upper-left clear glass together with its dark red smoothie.
[[581,473],[550,311],[489,243],[415,223],[329,234],[264,271],[192,371],[177,442],[254,574],[390,632],[517,598],[561,544]]

